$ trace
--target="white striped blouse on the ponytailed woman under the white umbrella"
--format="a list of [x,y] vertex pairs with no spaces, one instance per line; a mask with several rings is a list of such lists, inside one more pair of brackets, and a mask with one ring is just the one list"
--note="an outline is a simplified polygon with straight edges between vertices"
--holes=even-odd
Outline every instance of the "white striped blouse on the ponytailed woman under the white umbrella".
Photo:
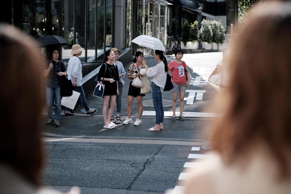
[[158,63],[155,67],[148,68],[146,75],[148,77],[153,77],[151,81],[161,88],[161,92],[164,91],[167,73],[165,72],[165,64],[163,61]]

